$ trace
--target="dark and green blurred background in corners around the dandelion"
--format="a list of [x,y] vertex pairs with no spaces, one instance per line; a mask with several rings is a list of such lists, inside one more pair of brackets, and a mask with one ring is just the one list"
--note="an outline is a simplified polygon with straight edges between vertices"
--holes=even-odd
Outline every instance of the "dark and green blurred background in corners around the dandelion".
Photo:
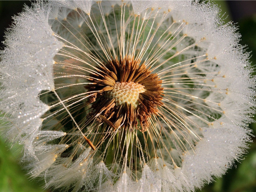
[[[252,52],[251,62],[256,68],[256,1],[215,1],[220,6],[225,21],[233,20],[239,26],[242,35],[241,44],[247,45],[247,51]],[[29,1],[0,1],[0,42],[3,41],[4,30],[12,22],[12,16],[22,10],[23,4],[31,5]],[[1,49],[4,45],[0,43]],[[1,70],[1,69],[0,69]],[[255,118],[256,119],[256,118]],[[256,123],[250,124],[256,135]],[[241,163],[236,162],[233,169],[222,178],[206,185],[203,192],[256,192],[256,137],[252,138],[249,153]],[[4,142],[0,136],[0,192],[41,192],[42,181],[31,180],[26,176],[19,164],[20,148]],[[200,190],[198,190],[199,192]]]

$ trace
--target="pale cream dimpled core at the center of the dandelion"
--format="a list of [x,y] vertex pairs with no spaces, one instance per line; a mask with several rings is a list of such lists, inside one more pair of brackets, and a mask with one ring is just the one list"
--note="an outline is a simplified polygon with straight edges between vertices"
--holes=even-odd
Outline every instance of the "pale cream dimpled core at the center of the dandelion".
[[116,105],[131,104],[138,106],[139,94],[145,92],[144,86],[133,82],[116,82],[113,90],[108,92],[110,99],[115,99]]

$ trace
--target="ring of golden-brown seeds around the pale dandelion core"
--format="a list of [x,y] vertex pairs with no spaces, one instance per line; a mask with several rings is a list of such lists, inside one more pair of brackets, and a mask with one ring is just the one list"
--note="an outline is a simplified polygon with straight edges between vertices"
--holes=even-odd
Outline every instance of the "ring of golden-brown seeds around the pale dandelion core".
[[[92,84],[85,86],[89,92],[95,92],[89,99],[92,103],[90,118],[99,115],[98,121],[104,122],[114,129],[121,124],[124,127],[140,129],[147,131],[149,127],[148,118],[152,114],[158,113],[158,107],[163,105],[161,102],[163,95],[162,81],[155,73],[146,68],[144,64],[133,58],[125,57],[119,61],[109,61],[104,66],[99,67],[99,74],[91,75],[89,79]],[[139,93],[138,105],[124,102],[122,105],[116,103],[115,98],[109,98],[109,92],[114,89],[116,82],[133,82],[141,84],[145,91]],[[138,123],[140,125],[138,126]]]

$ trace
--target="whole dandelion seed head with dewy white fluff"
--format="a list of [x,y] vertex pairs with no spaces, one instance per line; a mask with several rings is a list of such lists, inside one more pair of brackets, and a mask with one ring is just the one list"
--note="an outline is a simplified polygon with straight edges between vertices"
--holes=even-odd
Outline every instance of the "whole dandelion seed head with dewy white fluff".
[[249,54],[190,1],[37,2],[1,52],[1,127],[46,188],[194,191],[250,141]]

